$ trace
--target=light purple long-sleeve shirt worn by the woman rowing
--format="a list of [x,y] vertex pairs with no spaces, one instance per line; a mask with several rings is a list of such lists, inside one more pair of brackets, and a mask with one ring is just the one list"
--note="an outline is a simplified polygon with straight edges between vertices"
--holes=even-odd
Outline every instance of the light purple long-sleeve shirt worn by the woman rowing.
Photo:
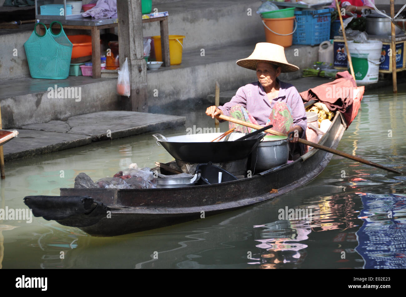
[[285,83],[279,79],[277,81],[279,83],[279,94],[278,97],[272,98],[271,103],[262,85],[259,81],[255,81],[239,88],[235,96],[231,98],[231,101],[219,106],[218,109],[222,110],[224,115],[230,116],[229,110],[231,107],[237,104],[241,105],[257,120],[259,125],[265,126],[272,107],[276,102],[281,101],[285,102],[292,109],[294,126],[298,125],[303,129],[303,132],[306,131],[306,111],[298,90],[290,83]]

